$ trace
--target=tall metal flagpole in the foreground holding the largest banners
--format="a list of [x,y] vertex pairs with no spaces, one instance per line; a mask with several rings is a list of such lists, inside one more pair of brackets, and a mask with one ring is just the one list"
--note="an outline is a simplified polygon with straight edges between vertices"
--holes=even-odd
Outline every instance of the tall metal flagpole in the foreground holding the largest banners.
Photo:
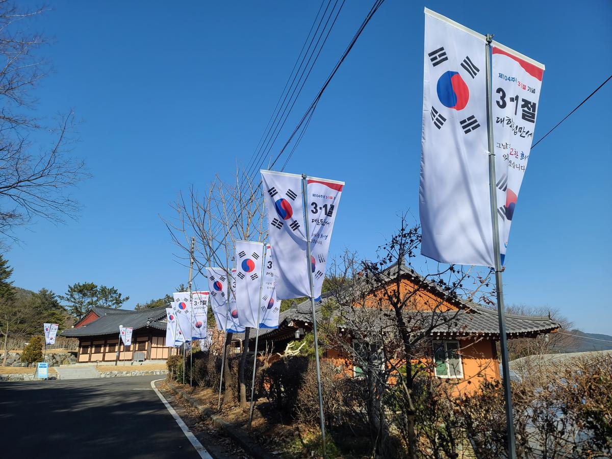
[[508,346],[506,337],[506,316],[504,313],[504,291],[501,279],[501,255],[499,249],[499,225],[497,212],[497,189],[495,177],[495,151],[493,143],[493,107],[491,106],[491,41],[493,35],[487,34],[487,133],[489,148],[489,190],[491,198],[491,222],[493,223],[493,253],[495,256],[495,284],[498,300],[499,344],[501,347],[501,365],[504,371],[504,399],[506,400],[506,430],[508,435],[508,457],[516,459],[517,449],[514,438],[514,420],[512,416],[512,392],[510,390],[510,367],[508,365]]

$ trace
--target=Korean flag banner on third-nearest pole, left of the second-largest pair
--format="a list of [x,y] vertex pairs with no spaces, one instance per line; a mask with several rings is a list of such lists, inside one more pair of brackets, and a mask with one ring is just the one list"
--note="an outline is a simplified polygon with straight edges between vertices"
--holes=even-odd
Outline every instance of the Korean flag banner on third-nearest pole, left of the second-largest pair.
[[236,241],[237,319],[242,327],[258,327],[263,264],[263,242]]

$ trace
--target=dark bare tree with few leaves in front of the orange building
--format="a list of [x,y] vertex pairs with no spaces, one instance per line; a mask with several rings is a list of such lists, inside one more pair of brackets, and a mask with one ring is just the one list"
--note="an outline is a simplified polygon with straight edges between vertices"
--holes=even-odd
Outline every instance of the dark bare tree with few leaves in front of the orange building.
[[438,265],[417,274],[412,263],[419,246],[420,228],[409,226],[404,216],[397,233],[379,247],[378,261],[359,261],[346,253],[332,264],[326,281],[333,300],[324,306],[330,310],[323,310],[321,328],[330,345],[362,372],[365,420],[376,452],[384,456],[392,453],[390,420],[409,457],[417,457],[419,406],[414,398],[419,377],[433,373],[431,332],[450,326],[459,313],[449,304],[493,294],[490,287],[483,288],[488,274],[480,275],[474,267]]

